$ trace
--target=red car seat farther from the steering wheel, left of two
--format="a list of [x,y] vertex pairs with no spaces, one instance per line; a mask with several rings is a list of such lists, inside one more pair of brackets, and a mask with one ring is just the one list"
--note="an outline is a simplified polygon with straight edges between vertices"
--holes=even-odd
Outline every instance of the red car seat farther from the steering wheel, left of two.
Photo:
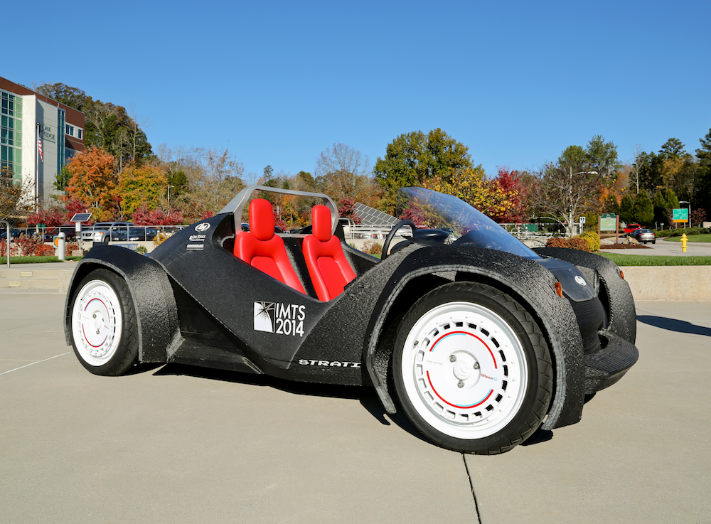
[[269,200],[255,198],[250,203],[250,230],[235,235],[235,256],[306,294],[287,257],[282,237],[274,235],[274,212]]

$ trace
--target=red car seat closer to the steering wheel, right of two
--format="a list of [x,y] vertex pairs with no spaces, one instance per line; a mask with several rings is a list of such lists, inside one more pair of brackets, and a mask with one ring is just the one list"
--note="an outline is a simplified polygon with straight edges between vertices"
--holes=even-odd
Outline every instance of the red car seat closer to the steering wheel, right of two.
[[355,272],[343,255],[341,241],[331,234],[331,210],[316,205],[311,210],[313,235],[304,238],[304,258],[319,300],[335,299],[355,278]]

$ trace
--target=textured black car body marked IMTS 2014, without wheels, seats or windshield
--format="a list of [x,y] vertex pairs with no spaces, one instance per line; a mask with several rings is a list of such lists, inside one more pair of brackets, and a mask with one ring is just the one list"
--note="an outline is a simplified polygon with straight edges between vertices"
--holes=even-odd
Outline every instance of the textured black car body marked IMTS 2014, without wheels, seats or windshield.
[[[105,268],[127,284],[139,362],[373,385],[390,413],[397,407],[388,373],[402,316],[420,297],[454,282],[501,290],[540,325],[553,373],[545,429],[578,422],[586,396],[615,383],[636,361],[629,286],[615,264],[597,255],[544,249],[538,250],[542,258],[530,260],[467,242],[414,237],[379,261],[342,240],[357,277],[336,299],[320,301],[301,255],[304,235],[282,235],[306,289],[301,294],[232,255],[241,220],[241,208],[208,218],[147,257],[94,247],[70,284],[67,343],[72,344],[72,303],[80,282]],[[341,226],[336,228],[342,238]]]

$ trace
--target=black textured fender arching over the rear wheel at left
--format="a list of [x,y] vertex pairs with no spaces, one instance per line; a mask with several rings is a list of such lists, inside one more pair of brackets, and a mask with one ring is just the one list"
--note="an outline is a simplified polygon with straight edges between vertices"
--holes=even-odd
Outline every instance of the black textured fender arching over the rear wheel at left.
[[155,260],[117,246],[97,246],[77,264],[65,299],[64,332],[71,346],[71,300],[81,280],[105,267],[119,274],[129,287],[137,314],[139,361],[165,362],[182,343],[178,307],[168,275]]

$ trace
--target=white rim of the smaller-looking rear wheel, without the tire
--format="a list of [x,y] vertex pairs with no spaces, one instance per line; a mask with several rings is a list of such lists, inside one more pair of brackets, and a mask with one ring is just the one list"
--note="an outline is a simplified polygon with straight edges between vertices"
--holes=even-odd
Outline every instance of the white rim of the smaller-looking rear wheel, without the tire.
[[72,311],[72,336],[81,358],[100,366],[116,353],[121,340],[121,301],[103,280],[80,289]]

